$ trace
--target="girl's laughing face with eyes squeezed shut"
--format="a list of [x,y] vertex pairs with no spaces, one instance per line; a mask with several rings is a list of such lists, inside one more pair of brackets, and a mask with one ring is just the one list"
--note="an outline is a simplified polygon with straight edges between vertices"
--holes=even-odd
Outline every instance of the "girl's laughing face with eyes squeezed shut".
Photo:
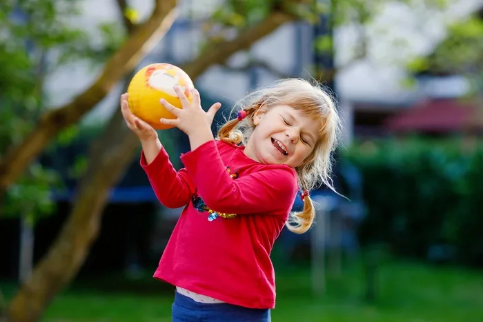
[[255,112],[256,128],[245,154],[259,163],[300,165],[313,151],[319,137],[320,122],[299,110],[279,105]]

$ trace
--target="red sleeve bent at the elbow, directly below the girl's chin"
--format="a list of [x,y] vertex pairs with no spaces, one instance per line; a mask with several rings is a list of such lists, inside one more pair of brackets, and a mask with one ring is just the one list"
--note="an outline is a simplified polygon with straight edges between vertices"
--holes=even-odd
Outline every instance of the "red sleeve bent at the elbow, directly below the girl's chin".
[[181,155],[197,193],[217,212],[250,214],[288,212],[298,183],[295,170],[277,165],[233,180],[226,171],[214,140]]

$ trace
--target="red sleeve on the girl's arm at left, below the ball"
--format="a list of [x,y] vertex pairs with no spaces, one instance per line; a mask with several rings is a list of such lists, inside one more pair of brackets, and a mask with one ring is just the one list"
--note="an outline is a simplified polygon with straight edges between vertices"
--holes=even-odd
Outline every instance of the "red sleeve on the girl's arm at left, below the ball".
[[176,171],[164,148],[161,148],[150,164],[146,163],[144,152],[141,152],[140,163],[162,205],[167,208],[180,208],[188,204],[195,192],[195,185],[186,169]]

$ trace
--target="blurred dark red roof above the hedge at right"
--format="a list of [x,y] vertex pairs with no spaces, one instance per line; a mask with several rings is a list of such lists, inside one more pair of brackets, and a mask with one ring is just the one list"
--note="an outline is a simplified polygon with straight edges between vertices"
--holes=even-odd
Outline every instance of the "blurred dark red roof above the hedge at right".
[[425,100],[389,117],[385,125],[395,132],[481,130],[483,108],[456,99]]

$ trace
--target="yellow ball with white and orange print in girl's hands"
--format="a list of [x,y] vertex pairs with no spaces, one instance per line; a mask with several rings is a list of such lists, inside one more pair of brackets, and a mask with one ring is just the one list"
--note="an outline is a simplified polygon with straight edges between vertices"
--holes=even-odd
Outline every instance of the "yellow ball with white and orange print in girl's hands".
[[160,119],[176,119],[159,102],[165,99],[176,108],[183,108],[174,87],[178,85],[188,101],[192,101],[193,81],[184,70],[169,63],[153,63],[132,77],[128,86],[128,103],[132,114],[149,123],[157,130],[172,128],[172,125],[161,123]]

